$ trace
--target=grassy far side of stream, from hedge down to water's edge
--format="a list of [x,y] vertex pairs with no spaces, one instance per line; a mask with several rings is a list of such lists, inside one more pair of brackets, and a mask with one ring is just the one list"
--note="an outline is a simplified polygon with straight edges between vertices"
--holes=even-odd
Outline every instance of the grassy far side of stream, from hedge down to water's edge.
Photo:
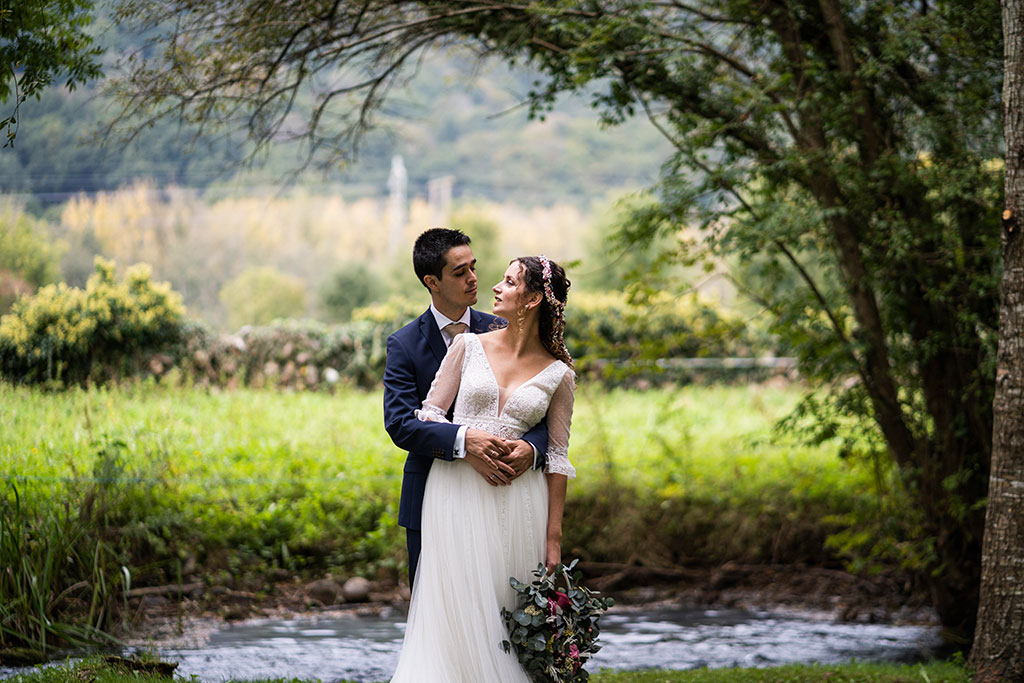
[[[928,622],[894,569],[891,548],[912,547],[912,524],[887,470],[838,457],[839,443],[773,432],[800,396],[796,386],[582,387],[564,556],[625,605]],[[0,383],[0,402],[10,465],[0,516],[37,540],[4,549],[22,558],[22,593],[17,635],[0,647],[75,647],[57,627],[86,614],[134,638],[155,624],[183,632],[186,620],[403,609],[403,454],[381,429],[380,392]],[[854,532],[862,526],[874,536]],[[67,562],[44,572],[50,557]],[[839,570],[854,560],[872,578]],[[342,600],[350,580],[366,594]]]

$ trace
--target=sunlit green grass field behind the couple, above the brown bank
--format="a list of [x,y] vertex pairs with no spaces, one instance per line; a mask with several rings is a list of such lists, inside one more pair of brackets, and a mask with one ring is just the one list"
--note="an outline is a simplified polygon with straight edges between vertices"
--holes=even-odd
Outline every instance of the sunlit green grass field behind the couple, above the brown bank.
[[[771,441],[799,396],[582,387],[566,552],[813,561],[799,555],[820,554],[825,518],[869,509],[877,495],[835,447]],[[0,384],[0,476],[31,510],[105,501],[136,584],[173,581],[176,560],[234,580],[266,566],[373,574],[403,562],[403,455],[383,430],[379,392]]]

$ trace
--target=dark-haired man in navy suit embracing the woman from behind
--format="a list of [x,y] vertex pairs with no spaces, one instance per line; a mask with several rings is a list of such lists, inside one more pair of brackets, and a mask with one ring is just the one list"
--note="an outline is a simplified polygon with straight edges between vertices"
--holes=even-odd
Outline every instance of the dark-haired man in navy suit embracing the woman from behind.
[[409,452],[398,524],[406,527],[410,588],[420,559],[423,492],[434,460],[465,458],[487,483],[499,486],[530,467],[542,467],[548,446],[545,422],[518,441],[505,441],[479,429],[421,422],[414,415],[423,405],[452,340],[467,330],[487,332],[501,318],[470,308],[476,303],[476,259],[469,238],[459,230],[435,227],[417,238],[413,267],[430,292],[430,307],[388,337],[384,369],[384,428],[395,445]]

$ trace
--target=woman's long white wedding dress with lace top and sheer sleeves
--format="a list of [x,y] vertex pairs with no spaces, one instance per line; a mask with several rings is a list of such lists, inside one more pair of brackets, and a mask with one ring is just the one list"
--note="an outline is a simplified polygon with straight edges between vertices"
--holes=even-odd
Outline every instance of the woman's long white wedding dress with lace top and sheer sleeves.
[[[572,371],[555,360],[511,391],[499,387],[476,335],[455,338],[421,420],[445,421],[508,439],[548,418],[547,472],[575,476],[567,458]],[[423,500],[423,551],[406,639],[391,683],[529,683],[501,642],[501,608],[512,608],[509,577],[523,581],[544,561],[548,483],[528,470],[492,486],[464,460],[436,461]]]

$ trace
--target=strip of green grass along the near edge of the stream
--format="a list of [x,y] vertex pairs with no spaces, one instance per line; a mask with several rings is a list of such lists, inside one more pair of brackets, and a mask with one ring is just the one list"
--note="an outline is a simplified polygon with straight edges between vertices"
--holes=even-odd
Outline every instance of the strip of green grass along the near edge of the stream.
[[[157,666],[120,658],[89,657],[74,665],[39,669],[18,674],[10,683],[167,683],[170,676]],[[269,683],[271,680],[253,681]],[[923,665],[847,664],[837,666],[787,666],[772,669],[722,669],[696,671],[595,672],[593,683],[968,683],[970,675],[950,663]],[[298,683],[293,680],[293,683]],[[337,681],[335,683],[350,683]]]

